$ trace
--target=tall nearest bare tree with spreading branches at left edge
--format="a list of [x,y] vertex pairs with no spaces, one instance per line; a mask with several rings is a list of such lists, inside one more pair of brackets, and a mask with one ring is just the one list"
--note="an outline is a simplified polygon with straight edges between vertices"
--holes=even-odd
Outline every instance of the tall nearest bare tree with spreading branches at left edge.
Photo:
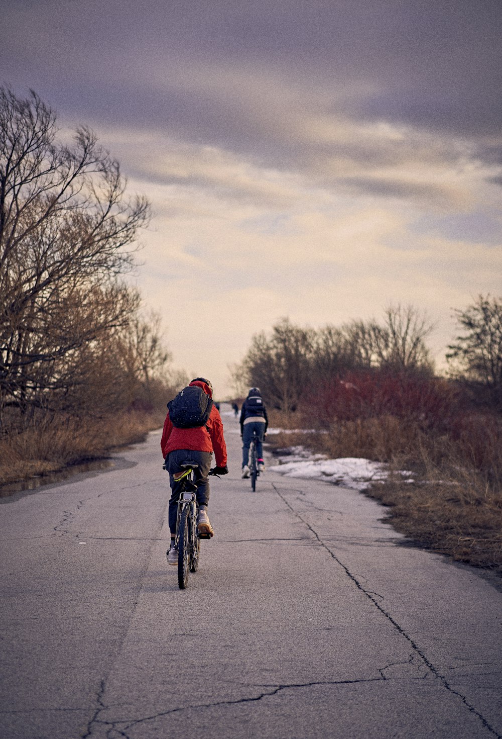
[[92,131],[56,137],[35,92],[0,87],[0,420],[6,403],[26,411],[63,390],[72,356],[137,310],[119,277],[148,203],[126,197]]

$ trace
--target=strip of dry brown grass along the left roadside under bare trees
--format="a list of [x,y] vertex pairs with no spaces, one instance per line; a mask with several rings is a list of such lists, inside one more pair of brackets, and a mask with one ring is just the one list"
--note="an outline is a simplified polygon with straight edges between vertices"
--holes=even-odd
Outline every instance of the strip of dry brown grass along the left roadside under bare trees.
[[142,441],[162,421],[155,413],[134,412],[92,421],[66,418],[4,437],[0,486],[106,457],[112,449]]

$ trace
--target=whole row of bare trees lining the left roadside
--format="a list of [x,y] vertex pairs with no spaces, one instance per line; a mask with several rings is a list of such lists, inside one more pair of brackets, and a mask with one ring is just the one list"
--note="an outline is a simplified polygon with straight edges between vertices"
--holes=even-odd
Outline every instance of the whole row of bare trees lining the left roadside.
[[103,415],[165,375],[159,320],[126,283],[144,197],[80,126],[71,143],[35,92],[0,87],[0,423]]

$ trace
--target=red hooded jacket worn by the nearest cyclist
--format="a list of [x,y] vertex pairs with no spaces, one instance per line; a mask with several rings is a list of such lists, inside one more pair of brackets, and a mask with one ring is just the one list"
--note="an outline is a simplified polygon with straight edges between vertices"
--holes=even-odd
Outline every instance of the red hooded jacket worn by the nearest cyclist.
[[[212,392],[205,382],[196,380],[190,385],[202,387],[206,395],[211,397]],[[194,452],[214,452],[216,464],[224,467],[227,464],[227,445],[223,437],[223,423],[219,410],[213,405],[210,417],[205,426],[197,426],[195,429],[178,429],[173,426],[169,414],[164,421],[164,430],[160,440],[160,448],[163,457],[175,449],[193,449]]]

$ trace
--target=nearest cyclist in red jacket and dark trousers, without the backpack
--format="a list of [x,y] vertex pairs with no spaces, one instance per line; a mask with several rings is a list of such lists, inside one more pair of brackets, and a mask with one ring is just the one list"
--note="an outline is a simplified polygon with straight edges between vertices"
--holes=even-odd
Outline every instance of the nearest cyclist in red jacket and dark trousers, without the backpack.
[[[198,377],[190,382],[190,386],[199,386],[210,398],[213,395],[213,386],[209,380]],[[178,498],[182,491],[183,483],[176,483],[173,474],[182,471],[183,463],[196,463],[197,468],[193,471],[193,480],[197,486],[197,503],[199,503],[199,517],[197,528],[200,534],[210,537],[214,536],[213,527],[207,516],[207,503],[209,501],[209,481],[207,475],[211,468],[211,455],[214,452],[216,459],[216,473],[227,474],[227,445],[223,436],[223,423],[219,410],[213,404],[210,416],[205,426],[196,426],[191,429],[179,429],[173,426],[169,414],[165,418],[162,439],[160,440],[162,455],[165,458],[165,469],[169,472],[171,483],[171,500],[169,500],[169,528],[171,530],[171,546],[167,553],[170,565],[178,562],[178,552],[174,548],[176,535],[176,514],[178,510]]]

